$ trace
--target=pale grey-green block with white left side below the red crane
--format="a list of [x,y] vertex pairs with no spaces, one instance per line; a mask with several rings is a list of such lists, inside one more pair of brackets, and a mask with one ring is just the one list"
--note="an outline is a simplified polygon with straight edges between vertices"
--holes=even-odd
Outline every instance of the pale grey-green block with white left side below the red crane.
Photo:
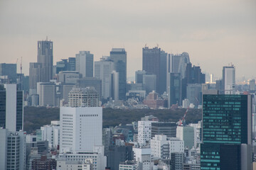
[[196,147],[196,133],[191,126],[177,126],[176,137],[184,141],[184,146],[191,149]]

